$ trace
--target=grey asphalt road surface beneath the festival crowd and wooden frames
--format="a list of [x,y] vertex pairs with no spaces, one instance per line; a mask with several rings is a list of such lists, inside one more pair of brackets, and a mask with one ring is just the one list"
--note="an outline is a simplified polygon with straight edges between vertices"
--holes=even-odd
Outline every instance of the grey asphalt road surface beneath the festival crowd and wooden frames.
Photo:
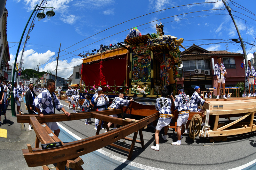
[[[60,101],[63,105],[68,105],[65,101]],[[67,107],[64,106],[66,110]],[[27,148],[26,144],[35,144],[34,130],[28,130],[28,123],[17,123],[16,117],[11,117],[11,107],[7,110],[8,121],[2,125],[1,129],[8,129],[7,138],[0,137],[0,170],[2,169],[42,169],[42,167],[28,168],[22,155],[22,148]],[[22,107],[25,110],[24,103]],[[69,112],[73,110],[68,110]],[[128,115],[129,116],[129,115]],[[4,116],[2,116],[4,117]],[[138,117],[136,117],[138,119]],[[16,122],[15,122],[16,120]],[[226,121],[225,119],[223,121]],[[60,125],[74,133],[78,138],[87,138],[95,135],[94,119],[90,125],[85,125],[84,120],[69,122],[59,122]],[[100,130],[104,133],[105,130]],[[180,146],[173,146],[176,141],[176,133],[168,131],[167,141],[162,139],[163,129],[160,132],[160,150],[154,151],[150,146],[155,145],[154,128],[148,126],[143,129],[145,148],[140,144],[135,144],[132,159],[127,159],[128,152],[119,150],[112,146],[106,146],[101,150],[91,152],[81,158],[84,160],[84,169],[231,169],[242,166],[256,158],[256,133],[241,135],[238,137],[228,137],[226,142],[211,143],[209,139],[199,138],[193,141],[187,134],[183,135]],[[133,134],[129,136],[133,137]],[[65,130],[61,129],[59,138],[63,142],[77,140]],[[139,136],[138,136],[139,140]],[[122,140],[116,144],[129,148],[131,142]],[[213,144],[213,145],[212,145]],[[211,145],[211,146],[204,146]],[[102,154],[105,152],[105,154]],[[112,155],[112,158],[106,156]],[[114,157],[113,157],[114,156]],[[120,161],[119,161],[120,160]],[[129,165],[128,165],[129,164]],[[134,167],[134,166],[136,167]],[[50,165],[51,167],[54,165]],[[155,167],[155,168],[153,168]],[[249,169],[249,168],[246,168]],[[254,169],[254,168],[251,168]]]

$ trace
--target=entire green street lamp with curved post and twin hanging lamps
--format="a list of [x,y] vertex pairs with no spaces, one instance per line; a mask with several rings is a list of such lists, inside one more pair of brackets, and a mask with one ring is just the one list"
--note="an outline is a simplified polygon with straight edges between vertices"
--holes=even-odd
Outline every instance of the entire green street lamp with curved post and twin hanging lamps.
[[[38,8],[38,9],[36,9]],[[35,11],[38,11],[38,10],[43,10],[43,12],[39,12],[36,16],[38,18],[38,20],[40,21],[41,19],[45,18],[45,14],[44,14],[44,9],[46,9],[48,7],[42,7],[42,6],[38,6],[38,4],[36,5],[36,7],[34,8],[33,12],[31,13],[29,19],[28,19],[28,22],[23,30],[23,33],[21,35],[21,38],[20,38],[20,42],[19,42],[19,46],[18,46],[18,49],[17,49],[17,53],[16,53],[16,56],[15,56],[15,61],[14,61],[14,65],[16,65],[16,62],[17,62],[17,58],[18,58],[18,54],[19,54],[19,50],[20,50],[20,44],[21,44],[21,41],[22,41],[22,38],[24,36],[24,33],[27,29],[27,26],[28,26],[28,23],[32,17],[32,15],[34,14]],[[52,16],[55,15],[55,13],[53,12],[53,7],[50,7],[50,9],[52,9],[51,11],[47,11],[46,12],[46,15],[47,15],[47,18],[51,18]],[[11,107],[12,107],[12,116],[16,116],[16,111],[15,111],[15,102],[14,102],[14,95],[13,95],[13,87],[14,87],[14,74],[15,74],[15,69],[13,68],[13,72],[12,72],[12,92],[11,92]]]

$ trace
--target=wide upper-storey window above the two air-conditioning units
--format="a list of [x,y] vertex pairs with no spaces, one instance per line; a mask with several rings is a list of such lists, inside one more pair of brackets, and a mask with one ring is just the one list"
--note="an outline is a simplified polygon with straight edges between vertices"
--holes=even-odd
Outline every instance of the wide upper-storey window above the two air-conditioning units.
[[195,69],[201,70],[211,70],[209,60],[190,60],[183,61],[183,70],[185,71],[194,71]]

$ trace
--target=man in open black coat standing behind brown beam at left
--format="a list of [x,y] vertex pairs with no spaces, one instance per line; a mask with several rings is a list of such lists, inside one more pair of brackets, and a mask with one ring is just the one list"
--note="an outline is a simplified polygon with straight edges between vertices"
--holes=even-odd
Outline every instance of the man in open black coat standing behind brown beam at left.
[[[28,88],[29,88],[29,90],[27,91],[26,98],[25,98],[26,99],[26,105],[27,105],[27,108],[28,108],[28,113],[29,114],[35,114],[36,113],[36,108],[35,108],[35,106],[33,106],[33,101],[36,98],[36,93],[33,90],[34,89],[33,83],[30,83],[28,85]],[[29,125],[28,125],[28,129],[32,130],[30,122],[29,122]]]

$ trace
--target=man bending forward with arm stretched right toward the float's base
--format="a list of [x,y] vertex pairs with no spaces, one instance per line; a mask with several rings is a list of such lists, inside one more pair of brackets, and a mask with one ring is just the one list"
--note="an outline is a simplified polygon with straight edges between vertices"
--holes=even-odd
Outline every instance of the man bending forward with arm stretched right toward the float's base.
[[[130,101],[132,101],[132,99],[130,100],[124,100],[124,94],[123,93],[119,93],[118,97],[115,97],[115,99],[112,101],[111,105],[108,107],[108,110],[113,110],[113,109],[119,109],[122,106],[129,106]],[[117,117],[117,115],[109,115],[111,117]],[[111,122],[108,122],[108,128],[111,126]],[[116,129],[116,123],[114,124],[114,128],[113,130]],[[105,132],[108,132],[107,130]]]

